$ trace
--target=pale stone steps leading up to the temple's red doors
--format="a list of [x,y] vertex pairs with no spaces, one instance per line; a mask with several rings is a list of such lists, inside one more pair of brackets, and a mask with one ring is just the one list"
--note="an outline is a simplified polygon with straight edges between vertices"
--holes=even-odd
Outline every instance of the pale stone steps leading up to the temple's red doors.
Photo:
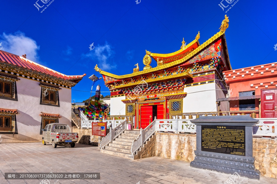
[[[118,138],[115,138],[112,143],[109,143],[105,149],[101,149],[100,152],[125,157],[128,159],[140,159],[142,158],[142,147],[136,151],[135,155],[131,154],[132,143],[135,139],[138,138],[139,134],[139,130],[125,130],[123,133],[121,133],[121,135],[118,135]],[[150,144],[150,142],[155,138],[155,135],[152,135],[152,137],[143,144],[143,147],[144,145]]]

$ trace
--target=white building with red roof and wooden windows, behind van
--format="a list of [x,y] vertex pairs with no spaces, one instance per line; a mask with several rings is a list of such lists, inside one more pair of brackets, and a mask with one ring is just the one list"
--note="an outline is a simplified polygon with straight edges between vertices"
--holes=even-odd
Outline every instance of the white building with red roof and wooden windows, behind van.
[[48,123],[71,127],[71,87],[86,75],[64,75],[25,57],[0,51],[1,143],[41,141]]

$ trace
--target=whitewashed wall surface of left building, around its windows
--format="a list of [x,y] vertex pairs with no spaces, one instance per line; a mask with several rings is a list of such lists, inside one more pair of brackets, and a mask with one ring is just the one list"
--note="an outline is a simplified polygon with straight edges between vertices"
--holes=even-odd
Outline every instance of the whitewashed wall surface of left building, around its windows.
[[15,115],[18,134],[2,135],[1,143],[38,142],[42,140],[41,112],[60,114],[59,123],[68,124],[71,127],[71,89],[60,87],[58,91],[60,107],[41,105],[41,86],[39,81],[18,77],[16,81],[18,101],[0,99],[0,108],[17,109]]

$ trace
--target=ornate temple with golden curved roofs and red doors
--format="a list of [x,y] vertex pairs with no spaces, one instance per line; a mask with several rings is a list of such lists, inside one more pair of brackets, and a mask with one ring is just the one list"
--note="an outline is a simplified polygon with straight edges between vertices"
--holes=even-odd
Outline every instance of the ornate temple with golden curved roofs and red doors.
[[[146,50],[143,70],[136,64],[133,73],[114,75],[95,66],[110,89],[110,115],[133,115],[134,128],[145,128],[170,114],[228,111],[229,102],[216,102],[228,92],[223,72],[231,70],[225,30],[225,15],[220,31],[199,43],[200,33],[173,53],[152,53]],[[156,67],[150,66],[155,60]]]

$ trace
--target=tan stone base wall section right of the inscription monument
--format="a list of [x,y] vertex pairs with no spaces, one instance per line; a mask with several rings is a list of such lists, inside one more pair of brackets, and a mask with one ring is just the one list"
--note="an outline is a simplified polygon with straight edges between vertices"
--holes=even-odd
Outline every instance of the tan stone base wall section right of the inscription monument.
[[253,157],[262,176],[277,178],[277,139],[253,138]]

